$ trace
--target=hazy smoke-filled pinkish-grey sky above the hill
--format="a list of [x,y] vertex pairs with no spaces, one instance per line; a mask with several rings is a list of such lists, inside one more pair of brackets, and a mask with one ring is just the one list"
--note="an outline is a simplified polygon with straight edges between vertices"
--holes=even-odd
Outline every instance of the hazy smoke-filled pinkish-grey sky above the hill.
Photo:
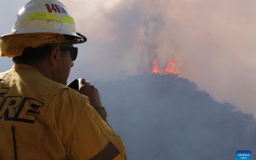
[[[0,34],[10,32],[27,0],[1,3]],[[144,20],[150,54],[159,66],[174,56],[182,78],[219,102],[256,115],[256,2],[254,0],[62,0],[88,42],[70,74],[90,81],[139,74]],[[12,66],[0,58],[0,71]]]

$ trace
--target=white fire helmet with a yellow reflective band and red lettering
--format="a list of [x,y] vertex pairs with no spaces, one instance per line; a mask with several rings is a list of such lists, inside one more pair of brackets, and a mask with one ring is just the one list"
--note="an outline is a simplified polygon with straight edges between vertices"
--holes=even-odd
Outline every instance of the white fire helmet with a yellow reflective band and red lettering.
[[74,44],[86,42],[86,37],[76,32],[74,18],[57,0],[31,0],[19,10],[12,31],[0,39],[14,34],[62,34]]

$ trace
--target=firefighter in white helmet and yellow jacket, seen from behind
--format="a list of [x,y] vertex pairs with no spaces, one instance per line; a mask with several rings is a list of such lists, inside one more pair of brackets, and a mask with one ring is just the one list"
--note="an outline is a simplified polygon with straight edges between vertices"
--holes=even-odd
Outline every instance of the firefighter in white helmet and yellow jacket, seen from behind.
[[98,90],[84,78],[66,86],[73,45],[86,42],[66,6],[31,0],[0,39],[14,62],[0,74],[0,159],[127,159]]

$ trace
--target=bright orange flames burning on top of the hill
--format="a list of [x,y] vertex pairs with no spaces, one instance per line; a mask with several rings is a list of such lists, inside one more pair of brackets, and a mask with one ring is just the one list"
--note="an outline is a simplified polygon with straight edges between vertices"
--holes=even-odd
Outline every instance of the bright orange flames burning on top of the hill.
[[178,61],[174,61],[174,57],[170,59],[170,62],[166,64],[164,67],[164,70],[159,70],[158,67],[158,59],[154,58],[152,62],[152,73],[154,74],[178,74],[178,77],[181,77],[181,73],[178,69],[178,67],[175,67],[175,65],[178,63]]

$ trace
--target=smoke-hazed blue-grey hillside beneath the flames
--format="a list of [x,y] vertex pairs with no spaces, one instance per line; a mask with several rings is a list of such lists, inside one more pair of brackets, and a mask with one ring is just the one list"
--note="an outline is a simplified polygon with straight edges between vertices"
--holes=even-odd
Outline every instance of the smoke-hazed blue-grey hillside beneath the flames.
[[253,115],[214,101],[186,78],[143,74],[94,85],[131,160],[230,160],[237,150],[256,153]]

